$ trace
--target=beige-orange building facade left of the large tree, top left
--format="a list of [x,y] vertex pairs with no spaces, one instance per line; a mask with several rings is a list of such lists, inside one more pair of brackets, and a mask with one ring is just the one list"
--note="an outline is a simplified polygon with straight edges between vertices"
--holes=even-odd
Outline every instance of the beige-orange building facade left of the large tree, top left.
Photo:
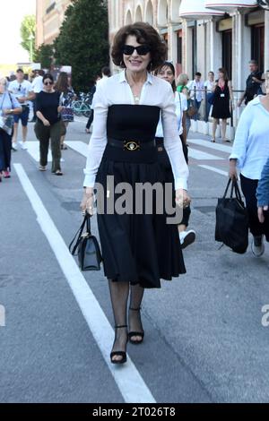
[[65,10],[72,0],[37,0],[36,47],[51,44],[59,34]]

